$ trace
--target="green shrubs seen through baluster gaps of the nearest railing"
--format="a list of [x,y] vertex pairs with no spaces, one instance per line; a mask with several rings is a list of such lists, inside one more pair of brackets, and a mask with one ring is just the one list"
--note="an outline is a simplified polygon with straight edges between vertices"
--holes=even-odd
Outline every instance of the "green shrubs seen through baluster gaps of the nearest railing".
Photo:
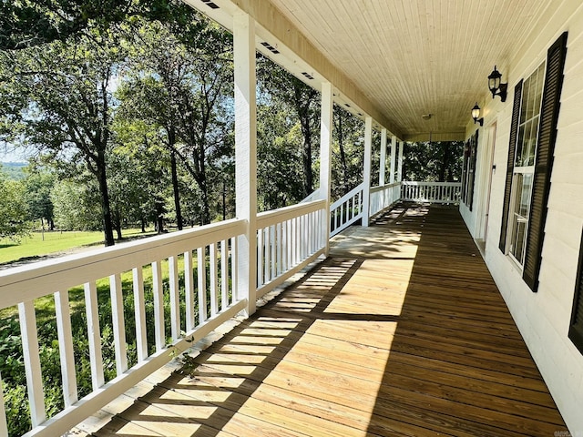
[[[209,259],[206,258],[207,273],[207,315],[210,315],[210,268]],[[195,257],[192,277],[198,275],[197,261]],[[169,305],[169,277],[168,262],[162,262],[163,273],[163,297],[165,332],[169,334],[171,329],[170,305]],[[146,320],[154,320],[154,305],[152,291],[151,267],[143,269],[144,295],[146,301]],[[133,299],[132,272],[128,271],[121,276],[122,296],[124,305],[124,318],[126,324],[126,341],[128,352],[128,365],[133,366],[138,362],[136,351],[136,320]],[[220,284],[219,284],[220,285]],[[186,308],[184,296],[184,272],[179,273],[179,302],[180,302],[180,330],[186,330]],[[220,287],[219,287],[220,290]],[[71,306],[71,326],[73,332],[73,348],[75,354],[77,391],[79,397],[90,393],[91,385],[89,349],[87,340],[87,315],[85,309],[84,291],[82,287],[68,290]],[[219,299],[221,297],[219,296]],[[115,366],[115,343],[112,330],[111,297],[109,292],[109,280],[97,280],[97,306],[99,326],[101,327],[101,351],[103,355],[105,381],[111,381],[117,376]],[[46,414],[51,417],[64,407],[62,393],[62,377],[60,371],[59,343],[57,341],[55,301],[52,295],[36,300],[36,320],[38,326],[38,339],[41,356],[43,386],[45,390]],[[195,322],[198,323],[198,306],[195,304]],[[17,436],[28,432],[31,422],[28,412],[28,399],[26,394],[26,379],[22,343],[20,339],[20,327],[17,321],[15,309],[2,311],[0,318],[0,374],[5,391],[5,409],[9,422],[10,436]],[[152,325],[148,325],[147,341],[148,353],[156,351],[155,331]],[[167,339],[170,341],[170,339]],[[170,351],[169,351],[170,353]]]

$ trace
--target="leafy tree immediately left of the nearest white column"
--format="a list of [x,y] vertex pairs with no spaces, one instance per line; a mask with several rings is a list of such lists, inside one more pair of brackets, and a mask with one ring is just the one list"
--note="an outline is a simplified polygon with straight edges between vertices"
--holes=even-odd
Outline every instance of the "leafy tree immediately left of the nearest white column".
[[[209,167],[212,170],[214,159],[220,161],[230,153],[232,38],[194,11],[192,20],[198,23],[198,32],[189,44],[182,43],[184,37],[181,40],[166,25],[145,23],[141,27],[132,71],[120,86],[119,98],[126,114],[164,129],[164,144],[171,156],[199,188],[199,222],[207,224]],[[175,198],[177,184],[175,178]],[[175,209],[179,212],[180,208]]]

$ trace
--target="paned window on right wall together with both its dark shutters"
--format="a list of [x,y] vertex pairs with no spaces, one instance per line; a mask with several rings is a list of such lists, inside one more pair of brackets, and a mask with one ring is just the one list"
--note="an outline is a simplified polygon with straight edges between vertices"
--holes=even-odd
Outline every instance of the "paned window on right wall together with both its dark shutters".
[[567,56],[567,32],[547,52],[547,62],[515,87],[499,248],[522,266],[537,291],[557,119]]

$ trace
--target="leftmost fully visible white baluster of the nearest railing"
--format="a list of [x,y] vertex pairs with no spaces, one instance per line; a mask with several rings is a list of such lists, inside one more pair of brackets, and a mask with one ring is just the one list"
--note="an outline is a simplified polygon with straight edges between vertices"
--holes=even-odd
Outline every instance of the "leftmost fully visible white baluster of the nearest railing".
[[33,428],[45,422],[45,391],[40,370],[38,330],[36,329],[35,303],[33,300],[18,304],[22,351],[25,358],[26,388]]

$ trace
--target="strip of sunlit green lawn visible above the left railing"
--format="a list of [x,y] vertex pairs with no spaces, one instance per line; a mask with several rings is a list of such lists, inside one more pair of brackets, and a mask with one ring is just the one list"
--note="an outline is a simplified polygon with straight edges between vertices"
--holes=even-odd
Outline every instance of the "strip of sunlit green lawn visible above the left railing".
[[[149,229],[146,234],[142,234],[141,229],[124,229],[123,237],[126,239],[151,235],[153,230]],[[23,258],[34,258],[49,253],[62,252],[67,249],[79,248],[82,246],[103,244],[102,231],[45,231],[33,232],[29,237],[16,243],[9,239],[0,239],[0,264]]]

